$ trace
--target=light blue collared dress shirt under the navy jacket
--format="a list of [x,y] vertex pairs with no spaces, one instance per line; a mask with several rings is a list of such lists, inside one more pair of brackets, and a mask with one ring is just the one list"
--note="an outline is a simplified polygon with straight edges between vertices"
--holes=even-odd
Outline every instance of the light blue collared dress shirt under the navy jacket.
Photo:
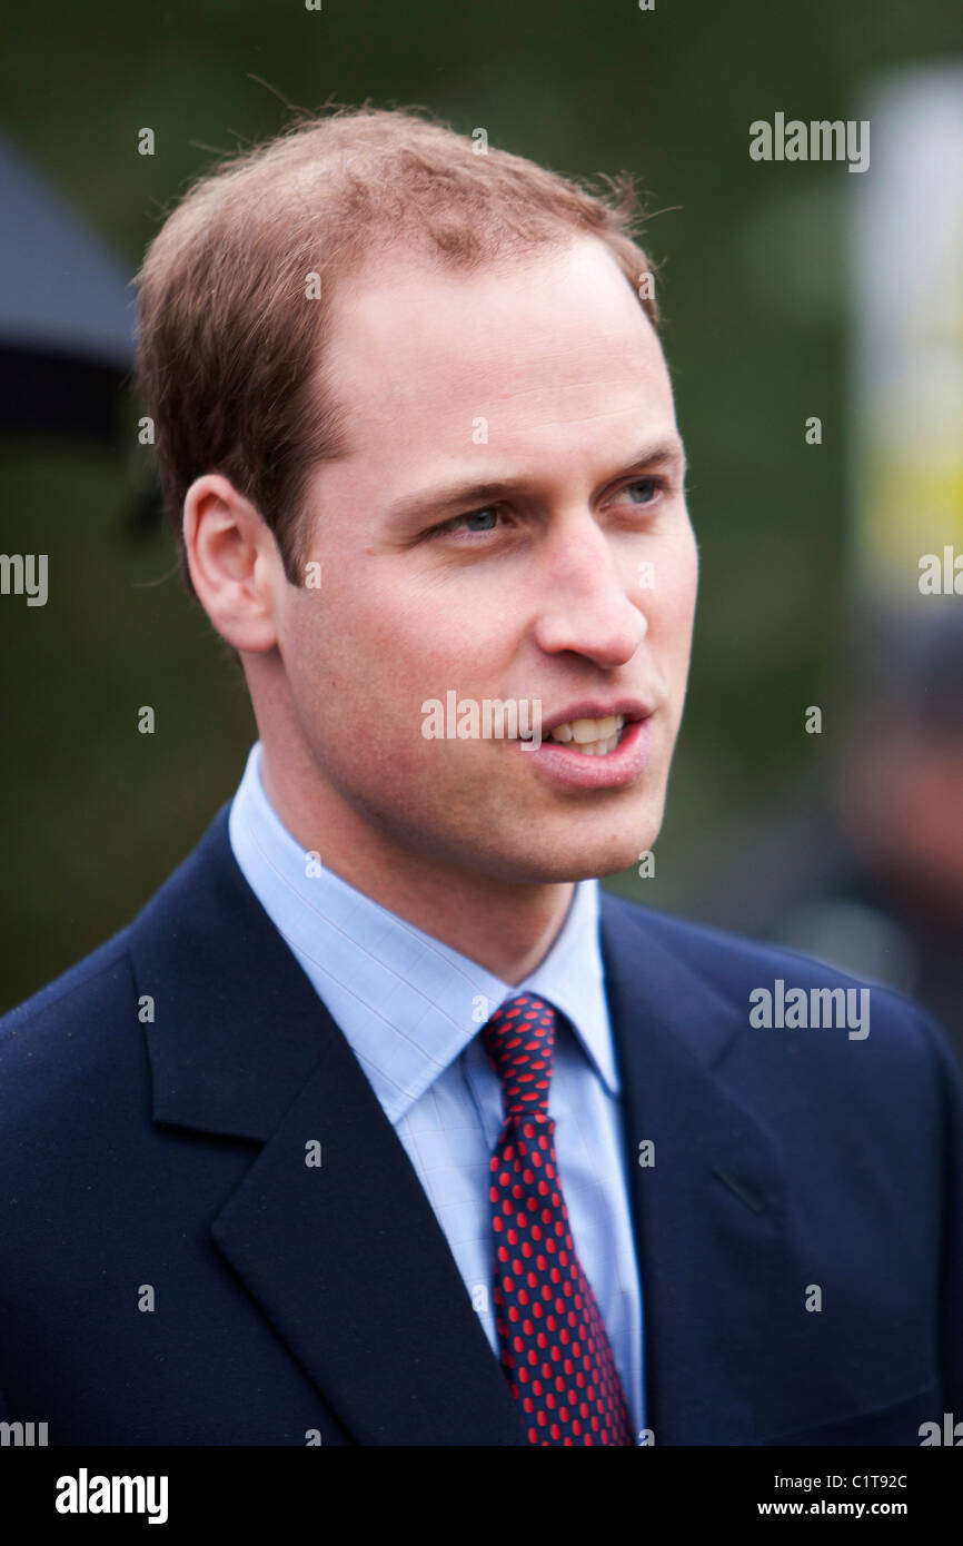
[[516,993],[560,1022],[549,1112],[578,1257],[601,1311],[629,1413],[645,1427],[641,1289],[623,1156],[618,1071],[598,943],[598,881],[584,880],[539,966],[512,986],[318,864],[277,816],[250,750],[230,846],[250,889],[343,1031],[414,1166],[495,1354],[488,1158],[502,1127],[479,1030]]

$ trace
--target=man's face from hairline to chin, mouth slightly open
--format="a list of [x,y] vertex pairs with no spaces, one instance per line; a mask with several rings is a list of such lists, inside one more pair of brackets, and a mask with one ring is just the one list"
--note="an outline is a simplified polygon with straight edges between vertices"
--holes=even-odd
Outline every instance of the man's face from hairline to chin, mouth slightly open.
[[[623,274],[594,238],[473,275],[391,257],[339,295],[331,351],[352,451],[314,473],[322,584],[288,587],[278,618],[312,781],[399,863],[526,883],[635,863],[697,557],[662,348]],[[427,739],[422,705],[448,693],[539,700],[541,748]],[[615,750],[550,736],[618,705]]]

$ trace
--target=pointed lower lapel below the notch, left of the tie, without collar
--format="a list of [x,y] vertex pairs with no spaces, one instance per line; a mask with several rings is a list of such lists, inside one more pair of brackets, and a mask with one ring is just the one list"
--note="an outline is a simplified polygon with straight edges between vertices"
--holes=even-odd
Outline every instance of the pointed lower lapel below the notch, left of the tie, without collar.
[[[305,1164],[312,1139],[320,1167]],[[359,1444],[524,1442],[448,1243],[346,1044],[329,1037],[213,1237]]]

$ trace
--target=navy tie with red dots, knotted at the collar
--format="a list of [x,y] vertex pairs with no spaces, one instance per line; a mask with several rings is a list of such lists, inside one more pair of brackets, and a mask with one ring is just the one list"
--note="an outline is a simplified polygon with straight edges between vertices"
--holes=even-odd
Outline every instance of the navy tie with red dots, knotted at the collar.
[[549,1084],[555,1010],[509,999],[482,1028],[505,1122],[490,1170],[493,1297],[501,1362],[532,1444],[632,1444],[592,1286],[572,1243]]

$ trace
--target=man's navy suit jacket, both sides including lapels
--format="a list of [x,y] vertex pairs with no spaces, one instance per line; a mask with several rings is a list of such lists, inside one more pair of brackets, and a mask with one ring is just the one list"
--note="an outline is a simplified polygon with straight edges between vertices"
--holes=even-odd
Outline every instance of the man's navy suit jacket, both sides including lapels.
[[[847,979],[611,895],[601,940],[654,1442],[912,1446],[963,1416],[941,1031],[875,988],[864,1040],[756,1030],[753,988]],[[127,929],[0,1020],[0,1418],[54,1446],[527,1442],[227,807]]]

